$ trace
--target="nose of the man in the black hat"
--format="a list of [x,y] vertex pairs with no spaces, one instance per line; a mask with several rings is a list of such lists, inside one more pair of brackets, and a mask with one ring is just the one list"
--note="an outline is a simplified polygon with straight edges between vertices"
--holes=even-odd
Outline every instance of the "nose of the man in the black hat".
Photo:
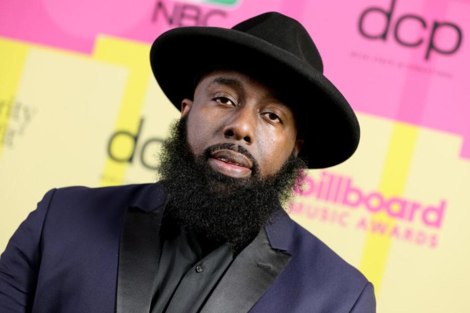
[[256,114],[249,107],[240,108],[224,127],[225,138],[252,144],[255,139]]

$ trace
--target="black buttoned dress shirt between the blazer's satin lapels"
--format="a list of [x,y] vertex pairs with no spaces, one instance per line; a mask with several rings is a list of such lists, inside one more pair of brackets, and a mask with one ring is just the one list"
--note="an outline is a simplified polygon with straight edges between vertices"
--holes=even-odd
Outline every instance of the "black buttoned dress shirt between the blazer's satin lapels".
[[199,312],[234,259],[232,245],[217,245],[164,219],[152,313]]

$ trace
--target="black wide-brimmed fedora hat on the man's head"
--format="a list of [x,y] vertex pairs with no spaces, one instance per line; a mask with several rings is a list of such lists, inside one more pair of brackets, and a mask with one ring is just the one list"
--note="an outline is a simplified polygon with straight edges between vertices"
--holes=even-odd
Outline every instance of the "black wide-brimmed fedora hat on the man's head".
[[233,68],[282,95],[300,125],[299,156],[308,168],[325,168],[352,156],[359,123],[347,100],[323,75],[320,54],[304,26],[268,12],[233,28],[188,26],[160,35],[150,50],[160,87],[179,110],[192,99],[195,80],[208,68]]

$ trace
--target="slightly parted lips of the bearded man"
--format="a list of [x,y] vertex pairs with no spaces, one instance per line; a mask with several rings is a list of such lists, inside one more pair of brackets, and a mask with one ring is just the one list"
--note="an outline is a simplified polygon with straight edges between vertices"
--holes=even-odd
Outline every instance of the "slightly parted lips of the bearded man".
[[209,164],[215,171],[234,178],[250,176],[253,167],[252,162],[246,156],[225,149],[211,153]]

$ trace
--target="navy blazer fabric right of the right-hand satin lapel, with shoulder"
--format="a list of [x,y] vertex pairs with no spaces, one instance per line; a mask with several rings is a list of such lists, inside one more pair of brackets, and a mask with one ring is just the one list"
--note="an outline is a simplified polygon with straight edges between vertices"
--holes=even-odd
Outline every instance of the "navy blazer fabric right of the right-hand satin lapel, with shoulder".
[[[287,229],[283,232],[284,237],[289,238],[285,251],[292,256],[291,260],[255,309],[269,308],[263,312],[374,311],[372,284],[359,270],[296,222],[290,220],[289,227],[283,229]],[[368,311],[361,311],[365,308]]]

